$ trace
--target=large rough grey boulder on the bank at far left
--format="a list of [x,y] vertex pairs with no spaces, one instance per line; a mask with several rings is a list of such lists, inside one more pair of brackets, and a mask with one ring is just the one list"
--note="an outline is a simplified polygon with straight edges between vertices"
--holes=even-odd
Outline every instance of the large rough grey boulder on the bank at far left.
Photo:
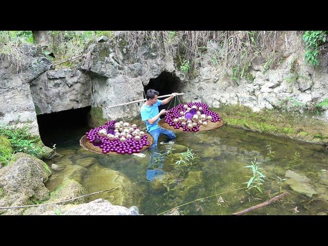
[[[25,206],[48,200],[44,183],[51,171],[45,162],[25,153],[16,153],[10,165],[0,169],[0,207]],[[20,214],[24,209],[0,210],[0,214]]]

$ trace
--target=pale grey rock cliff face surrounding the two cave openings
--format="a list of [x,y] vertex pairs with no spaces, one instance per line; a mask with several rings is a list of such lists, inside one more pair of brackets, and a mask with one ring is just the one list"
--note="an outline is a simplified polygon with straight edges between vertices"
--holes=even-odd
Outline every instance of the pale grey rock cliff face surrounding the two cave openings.
[[[163,72],[177,78],[175,88],[186,93],[183,101],[203,101],[216,108],[238,103],[254,111],[288,108],[303,112],[313,110],[328,98],[327,67],[321,63],[314,69],[304,62],[300,32],[288,31],[279,36],[276,51],[280,52],[281,60],[276,67],[268,69],[266,64],[270,60],[255,56],[249,68],[252,79],[237,81],[227,76],[221,65],[211,62],[213,47],[217,47],[213,42],[198,57],[196,77],[187,81],[176,64],[176,54],[144,44],[140,47],[142,58],[132,59],[123,36],[118,34],[117,40],[115,45],[106,38],[91,44],[78,70],[49,70],[49,61],[33,57],[27,71],[17,73],[7,60],[2,60],[1,122],[12,124],[17,119],[22,124],[30,122],[32,132],[37,134],[37,114],[86,106],[91,106],[94,125],[106,119],[129,120],[139,116],[141,104],[110,106],[143,99],[150,79]],[[325,107],[317,117],[328,119]]]

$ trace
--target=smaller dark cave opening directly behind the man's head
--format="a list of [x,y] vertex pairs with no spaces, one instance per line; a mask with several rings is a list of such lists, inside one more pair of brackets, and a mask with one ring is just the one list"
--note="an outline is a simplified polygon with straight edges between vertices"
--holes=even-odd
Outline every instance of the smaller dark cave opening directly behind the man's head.
[[[145,86],[144,90],[145,90],[145,95],[147,93],[147,90],[149,89],[154,89],[156,91],[159,92],[159,96],[162,95],[167,95],[167,94],[172,94],[173,92],[180,92],[179,91],[179,85],[180,85],[180,79],[178,77],[176,77],[175,75],[173,75],[172,73],[169,72],[162,72],[157,78],[151,78],[149,80],[149,83],[147,86]],[[146,98],[146,96],[144,95],[144,98]],[[165,99],[165,98],[160,98]],[[179,98],[181,101],[181,98]],[[175,102],[176,105],[178,105],[178,100],[176,99]],[[166,105],[161,105],[158,107],[158,110],[162,110],[162,109],[168,109],[169,108],[170,103],[166,104]],[[170,105],[170,108],[174,107],[174,98],[172,99],[172,103]],[[161,115],[161,118],[163,118],[164,115]]]

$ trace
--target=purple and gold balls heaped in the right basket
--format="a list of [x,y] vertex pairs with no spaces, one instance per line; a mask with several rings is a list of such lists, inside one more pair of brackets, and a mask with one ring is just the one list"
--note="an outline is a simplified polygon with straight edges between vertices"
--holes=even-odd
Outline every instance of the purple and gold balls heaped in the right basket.
[[197,132],[200,126],[207,126],[209,120],[217,122],[221,117],[204,103],[179,104],[165,115],[166,123],[175,129],[182,127],[185,132]]

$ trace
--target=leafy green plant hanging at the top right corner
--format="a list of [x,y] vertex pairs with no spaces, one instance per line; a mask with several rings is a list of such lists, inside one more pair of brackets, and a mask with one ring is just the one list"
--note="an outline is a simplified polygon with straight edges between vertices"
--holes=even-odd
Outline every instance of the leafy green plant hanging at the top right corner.
[[318,56],[320,48],[326,43],[328,31],[306,31],[303,40],[306,44],[304,58],[305,61],[312,65],[319,64]]

